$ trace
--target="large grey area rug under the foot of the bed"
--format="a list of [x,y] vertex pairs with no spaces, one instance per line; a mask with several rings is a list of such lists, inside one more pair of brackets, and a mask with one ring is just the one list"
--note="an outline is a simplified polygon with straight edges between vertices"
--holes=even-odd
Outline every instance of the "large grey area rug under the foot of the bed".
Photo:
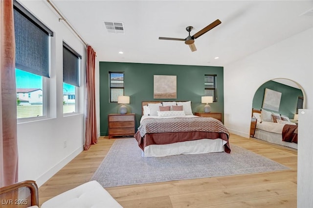
[[91,177],[103,187],[287,170],[289,167],[231,144],[231,153],[141,157],[135,139],[116,139]]

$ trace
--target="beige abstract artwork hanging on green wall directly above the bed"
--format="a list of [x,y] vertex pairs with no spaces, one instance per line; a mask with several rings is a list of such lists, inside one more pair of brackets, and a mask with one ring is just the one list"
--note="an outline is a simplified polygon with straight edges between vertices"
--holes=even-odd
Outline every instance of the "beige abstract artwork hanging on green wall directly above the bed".
[[153,75],[153,98],[177,98],[176,75]]

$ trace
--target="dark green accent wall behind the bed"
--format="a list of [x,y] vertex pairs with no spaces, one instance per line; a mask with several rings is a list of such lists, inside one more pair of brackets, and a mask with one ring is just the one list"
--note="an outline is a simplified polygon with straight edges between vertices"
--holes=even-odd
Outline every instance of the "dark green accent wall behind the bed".
[[[217,102],[211,103],[212,112],[224,115],[224,68],[164,64],[139,64],[120,62],[99,63],[100,83],[100,135],[108,135],[108,115],[117,114],[120,104],[109,102],[109,71],[124,72],[124,94],[130,96],[128,112],[136,116],[136,129],[141,118],[142,101],[189,101],[192,111],[203,112],[204,75],[217,75]],[[153,98],[153,75],[177,76],[177,99]]]

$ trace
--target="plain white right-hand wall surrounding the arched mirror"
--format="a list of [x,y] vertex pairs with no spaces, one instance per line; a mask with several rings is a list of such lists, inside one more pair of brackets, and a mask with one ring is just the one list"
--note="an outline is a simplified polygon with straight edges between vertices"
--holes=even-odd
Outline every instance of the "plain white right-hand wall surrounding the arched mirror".
[[249,137],[252,100],[268,80],[288,78],[302,86],[313,109],[313,28],[224,66],[224,123]]

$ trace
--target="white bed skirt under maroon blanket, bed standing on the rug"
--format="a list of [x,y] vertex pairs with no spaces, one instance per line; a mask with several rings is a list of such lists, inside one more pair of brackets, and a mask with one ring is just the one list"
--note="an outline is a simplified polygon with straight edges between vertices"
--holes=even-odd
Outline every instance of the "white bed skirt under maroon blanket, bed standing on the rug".
[[223,152],[225,143],[223,139],[198,139],[173,144],[151,144],[142,151],[142,157]]

